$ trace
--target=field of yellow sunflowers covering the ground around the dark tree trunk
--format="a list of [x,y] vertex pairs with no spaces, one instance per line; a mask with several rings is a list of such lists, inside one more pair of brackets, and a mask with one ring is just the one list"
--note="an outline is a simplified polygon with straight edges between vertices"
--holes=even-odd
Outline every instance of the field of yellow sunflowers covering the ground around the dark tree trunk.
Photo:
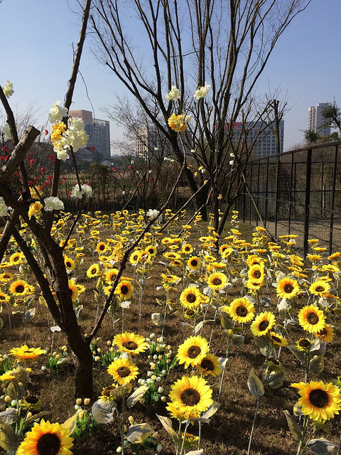
[[[65,266],[89,333],[156,210],[83,214]],[[163,223],[173,214],[166,210]],[[70,213],[53,227],[63,244]],[[1,262],[0,445],[17,455],[339,453],[340,252],[269,242],[238,213],[161,218],[131,253],[92,343],[94,397],[13,240]],[[31,250],[36,245],[26,237]],[[337,451],[339,446],[339,451]]]

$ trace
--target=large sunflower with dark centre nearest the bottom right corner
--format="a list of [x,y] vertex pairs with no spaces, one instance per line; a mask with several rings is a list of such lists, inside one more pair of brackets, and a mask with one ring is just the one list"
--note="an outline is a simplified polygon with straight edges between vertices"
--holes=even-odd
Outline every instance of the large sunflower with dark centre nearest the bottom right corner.
[[312,420],[329,420],[341,409],[340,389],[331,382],[324,384],[323,381],[293,382],[291,387],[296,387],[301,398],[298,403],[302,406],[302,412]]

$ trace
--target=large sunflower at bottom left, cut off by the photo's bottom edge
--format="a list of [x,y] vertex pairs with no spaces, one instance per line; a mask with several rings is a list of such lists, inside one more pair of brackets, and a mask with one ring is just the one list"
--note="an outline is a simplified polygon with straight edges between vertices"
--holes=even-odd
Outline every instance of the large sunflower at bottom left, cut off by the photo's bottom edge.
[[35,424],[31,432],[26,433],[16,455],[72,455],[70,447],[73,438],[62,425],[50,424],[44,419]]

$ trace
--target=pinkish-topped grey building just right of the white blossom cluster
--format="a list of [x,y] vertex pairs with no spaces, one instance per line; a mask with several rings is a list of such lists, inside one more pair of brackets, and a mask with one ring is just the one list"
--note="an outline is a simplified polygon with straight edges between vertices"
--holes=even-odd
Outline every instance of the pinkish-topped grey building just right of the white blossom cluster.
[[80,117],[89,135],[87,149],[94,147],[97,153],[87,154],[86,161],[110,160],[110,127],[107,120],[94,119],[92,112],[85,110],[69,111],[70,117]]

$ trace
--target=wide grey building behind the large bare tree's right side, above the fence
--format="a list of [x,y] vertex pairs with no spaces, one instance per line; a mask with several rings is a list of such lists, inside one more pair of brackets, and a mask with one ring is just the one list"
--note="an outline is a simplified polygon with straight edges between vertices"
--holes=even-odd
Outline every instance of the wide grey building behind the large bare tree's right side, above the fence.
[[[277,153],[275,125],[267,125],[264,122],[236,122],[232,140],[237,142],[243,131],[247,132],[248,143],[254,141],[253,158],[263,158]],[[229,123],[225,124],[225,134],[229,131]],[[279,122],[280,153],[283,153],[284,120]]]

